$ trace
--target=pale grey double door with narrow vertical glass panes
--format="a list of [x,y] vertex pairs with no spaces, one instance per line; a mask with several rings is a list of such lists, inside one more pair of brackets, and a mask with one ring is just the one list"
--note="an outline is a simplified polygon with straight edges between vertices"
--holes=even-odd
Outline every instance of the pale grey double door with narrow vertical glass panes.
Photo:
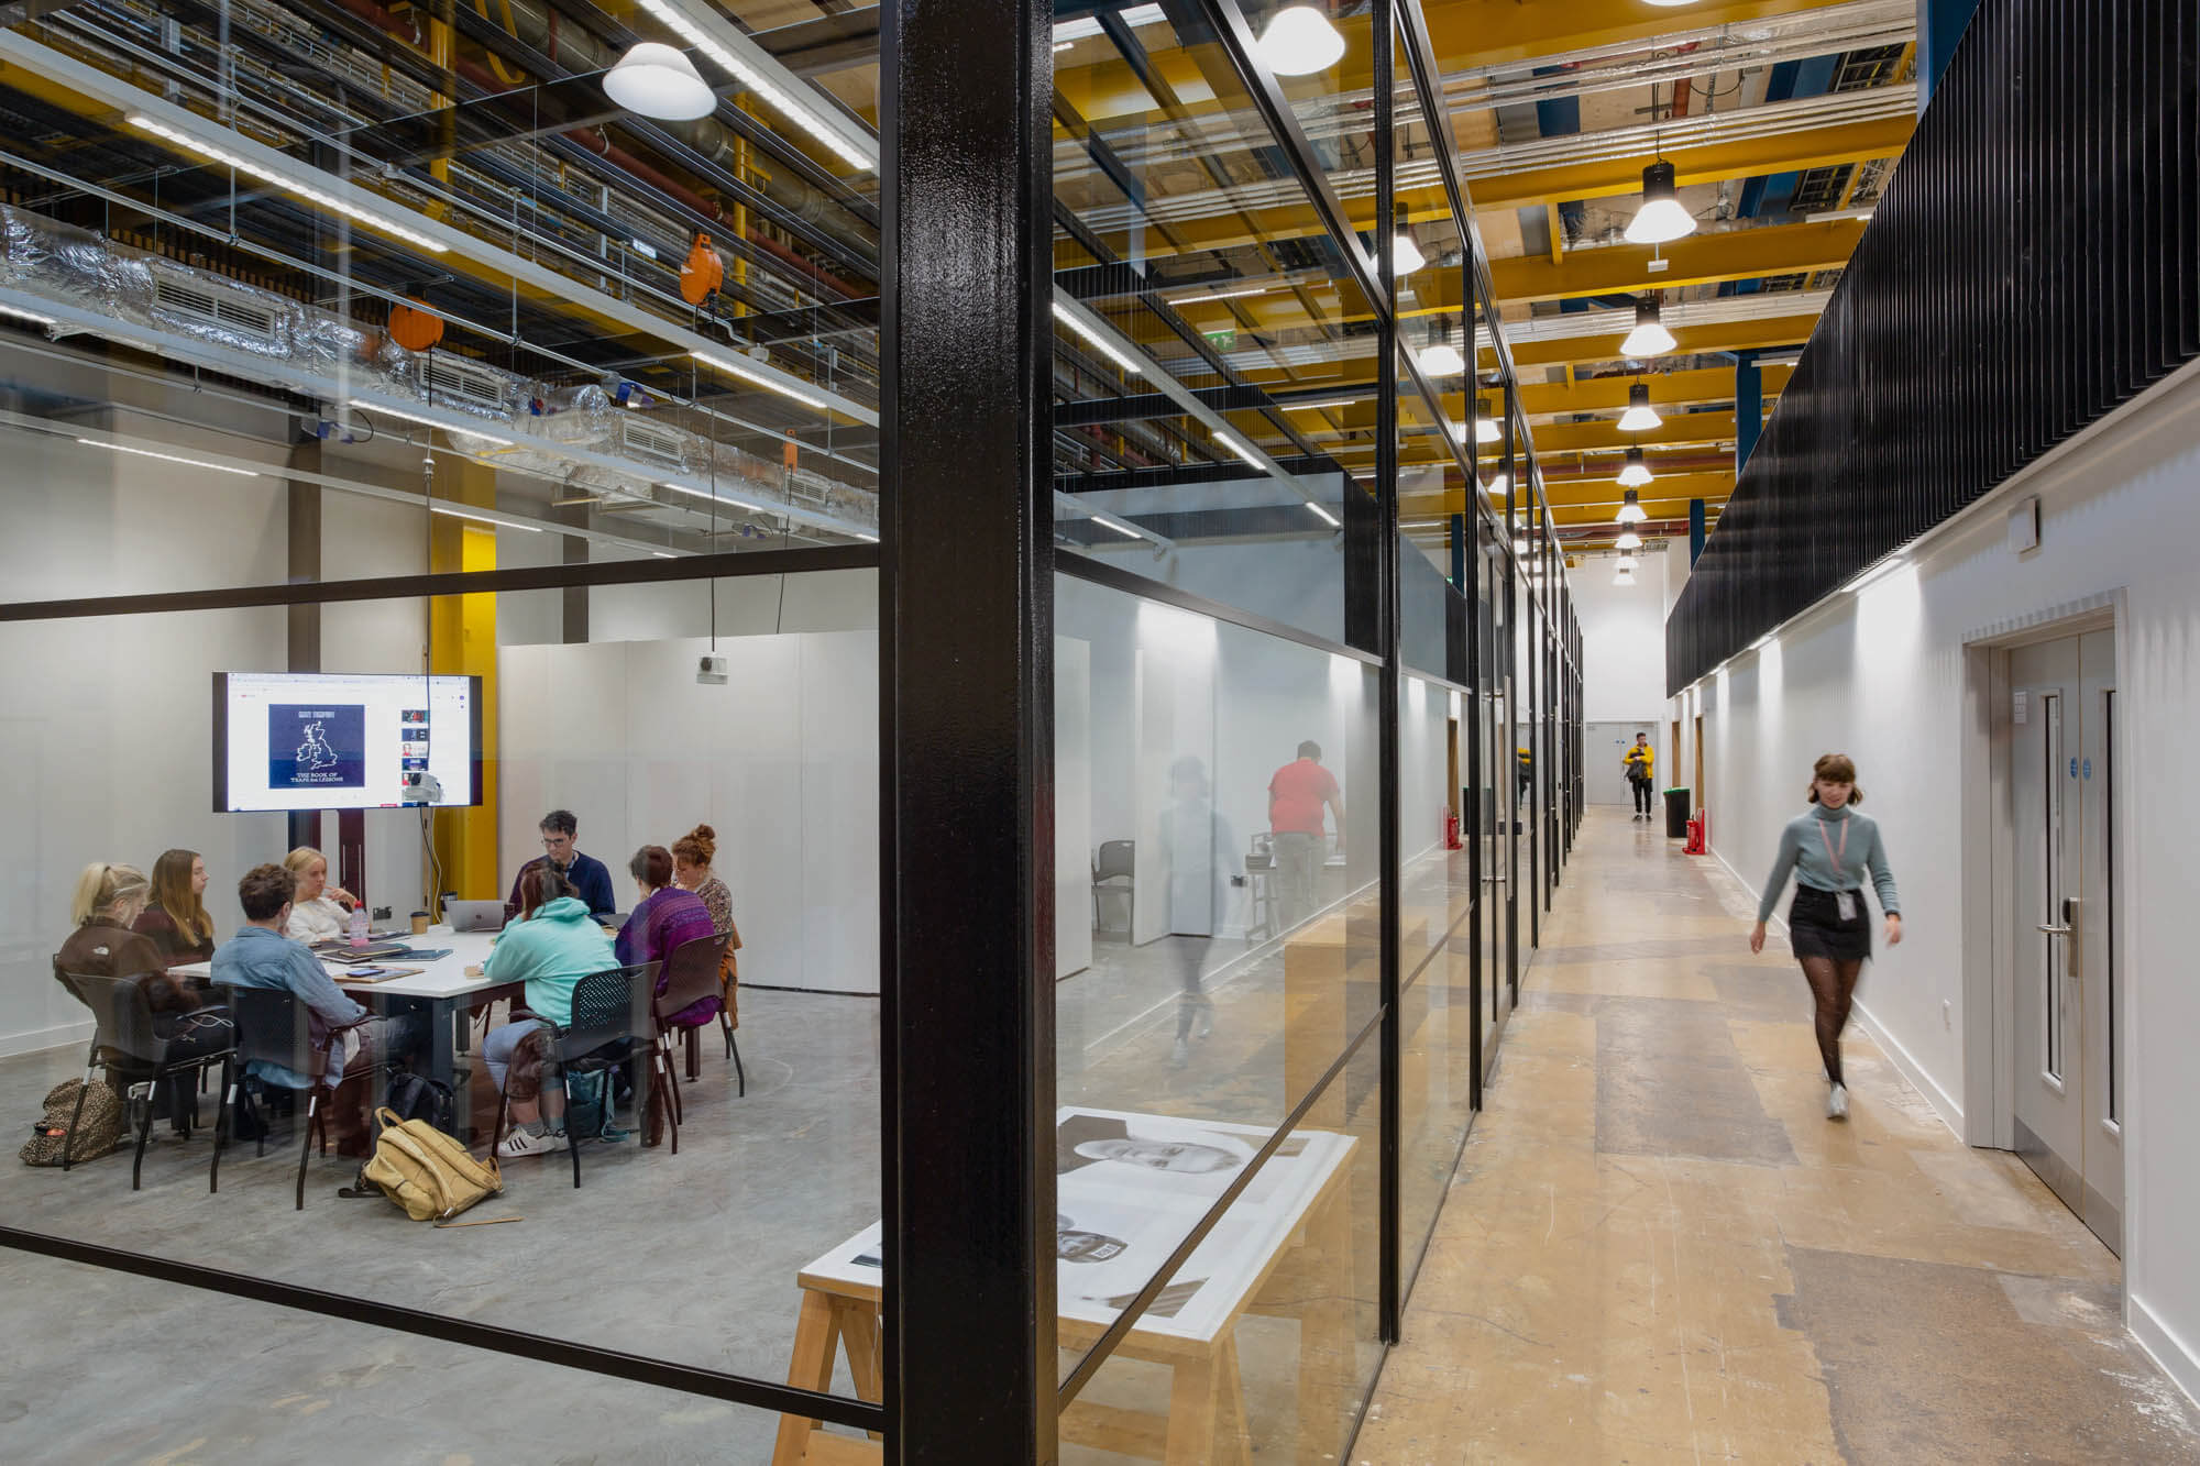
[[2123,1252],[2116,634],[2009,654],[2015,1149]]

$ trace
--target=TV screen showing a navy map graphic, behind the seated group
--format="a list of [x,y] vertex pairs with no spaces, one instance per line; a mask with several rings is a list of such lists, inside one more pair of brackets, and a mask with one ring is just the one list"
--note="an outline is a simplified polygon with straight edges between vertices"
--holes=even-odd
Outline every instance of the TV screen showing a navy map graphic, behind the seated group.
[[216,812],[480,801],[482,678],[213,674]]

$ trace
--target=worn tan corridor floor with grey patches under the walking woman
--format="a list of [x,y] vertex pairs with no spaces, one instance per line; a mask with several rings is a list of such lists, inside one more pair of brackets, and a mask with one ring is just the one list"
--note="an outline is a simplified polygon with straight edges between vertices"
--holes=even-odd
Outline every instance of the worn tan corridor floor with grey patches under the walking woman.
[[1591,812],[1353,1459],[2200,1462],[2114,1255],[2020,1160],[1855,1026],[1824,1118],[1749,916]]

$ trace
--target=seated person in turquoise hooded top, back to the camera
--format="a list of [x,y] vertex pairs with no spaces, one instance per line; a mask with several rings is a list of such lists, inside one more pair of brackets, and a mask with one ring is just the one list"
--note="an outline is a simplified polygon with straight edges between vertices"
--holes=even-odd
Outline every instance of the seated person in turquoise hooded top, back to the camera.
[[543,1083],[541,1041],[528,1039],[546,1021],[559,1028],[572,1024],[572,991],[581,980],[620,964],[612,938],[574,898],[565,876],[532,865],[519,876],[519,920],[504,927],[482,964],[486,977],[528,984],[526,1010],[482,1043],[488,1076],[513,1098],[513,1129],[497,1145],[497,1160],[565,1147],[565,1085],[554,1074]]

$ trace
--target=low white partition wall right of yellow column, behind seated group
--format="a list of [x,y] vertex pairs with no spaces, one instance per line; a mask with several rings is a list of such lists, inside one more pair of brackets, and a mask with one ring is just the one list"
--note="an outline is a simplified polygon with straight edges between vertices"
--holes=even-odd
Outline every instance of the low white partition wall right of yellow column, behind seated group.
[[695,682],[706,652],[700,636],[499,652],[504,880],[565,808],[625,909],[627,858],[708,823],[741,982],[876,993],[878,636],[722,638],[722,687]]

